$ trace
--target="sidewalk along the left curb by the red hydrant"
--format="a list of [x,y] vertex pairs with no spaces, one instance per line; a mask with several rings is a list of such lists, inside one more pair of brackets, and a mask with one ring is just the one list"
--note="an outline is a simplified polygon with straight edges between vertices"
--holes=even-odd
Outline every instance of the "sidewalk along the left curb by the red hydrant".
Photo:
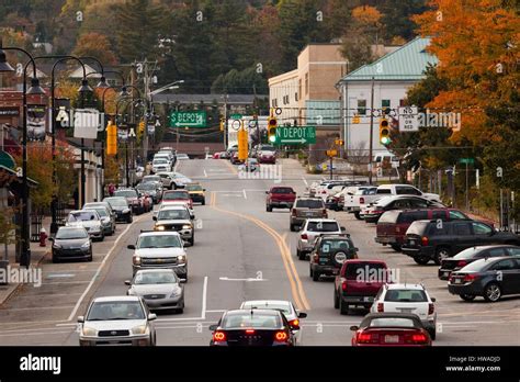
[[[50,217],[45,216],[43,221],[43,227],[47,232],[50,232]],[[39,243],[31,243],[31,266],[30,269],[38,268],[38,266],[45,259],[45,256],[50,252],[50,241],[47,240],[46,247],[39,247]],[[3,260],[4,251],[3,248],[0,249],[0,257]],[[20,265],[15,261],[15,251],[14,245],[8,247],[8,260],[9,260],[9,270],[19,269]],[[8,271],[9,273],[9,271]],[[23,285],[23,283],[9,283],[7,285],[0,285],[0,308],[2,305],[15,294],[15,292]]]

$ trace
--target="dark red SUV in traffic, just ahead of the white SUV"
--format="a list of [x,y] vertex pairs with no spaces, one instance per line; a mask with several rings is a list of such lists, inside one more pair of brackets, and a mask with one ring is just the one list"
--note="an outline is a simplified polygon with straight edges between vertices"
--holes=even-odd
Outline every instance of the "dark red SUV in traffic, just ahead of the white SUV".
[[387,268],[380,260],[346,260],[335,279],[334,307],[341,314],[350,306],[370,308],[381,286],[393,281]]

